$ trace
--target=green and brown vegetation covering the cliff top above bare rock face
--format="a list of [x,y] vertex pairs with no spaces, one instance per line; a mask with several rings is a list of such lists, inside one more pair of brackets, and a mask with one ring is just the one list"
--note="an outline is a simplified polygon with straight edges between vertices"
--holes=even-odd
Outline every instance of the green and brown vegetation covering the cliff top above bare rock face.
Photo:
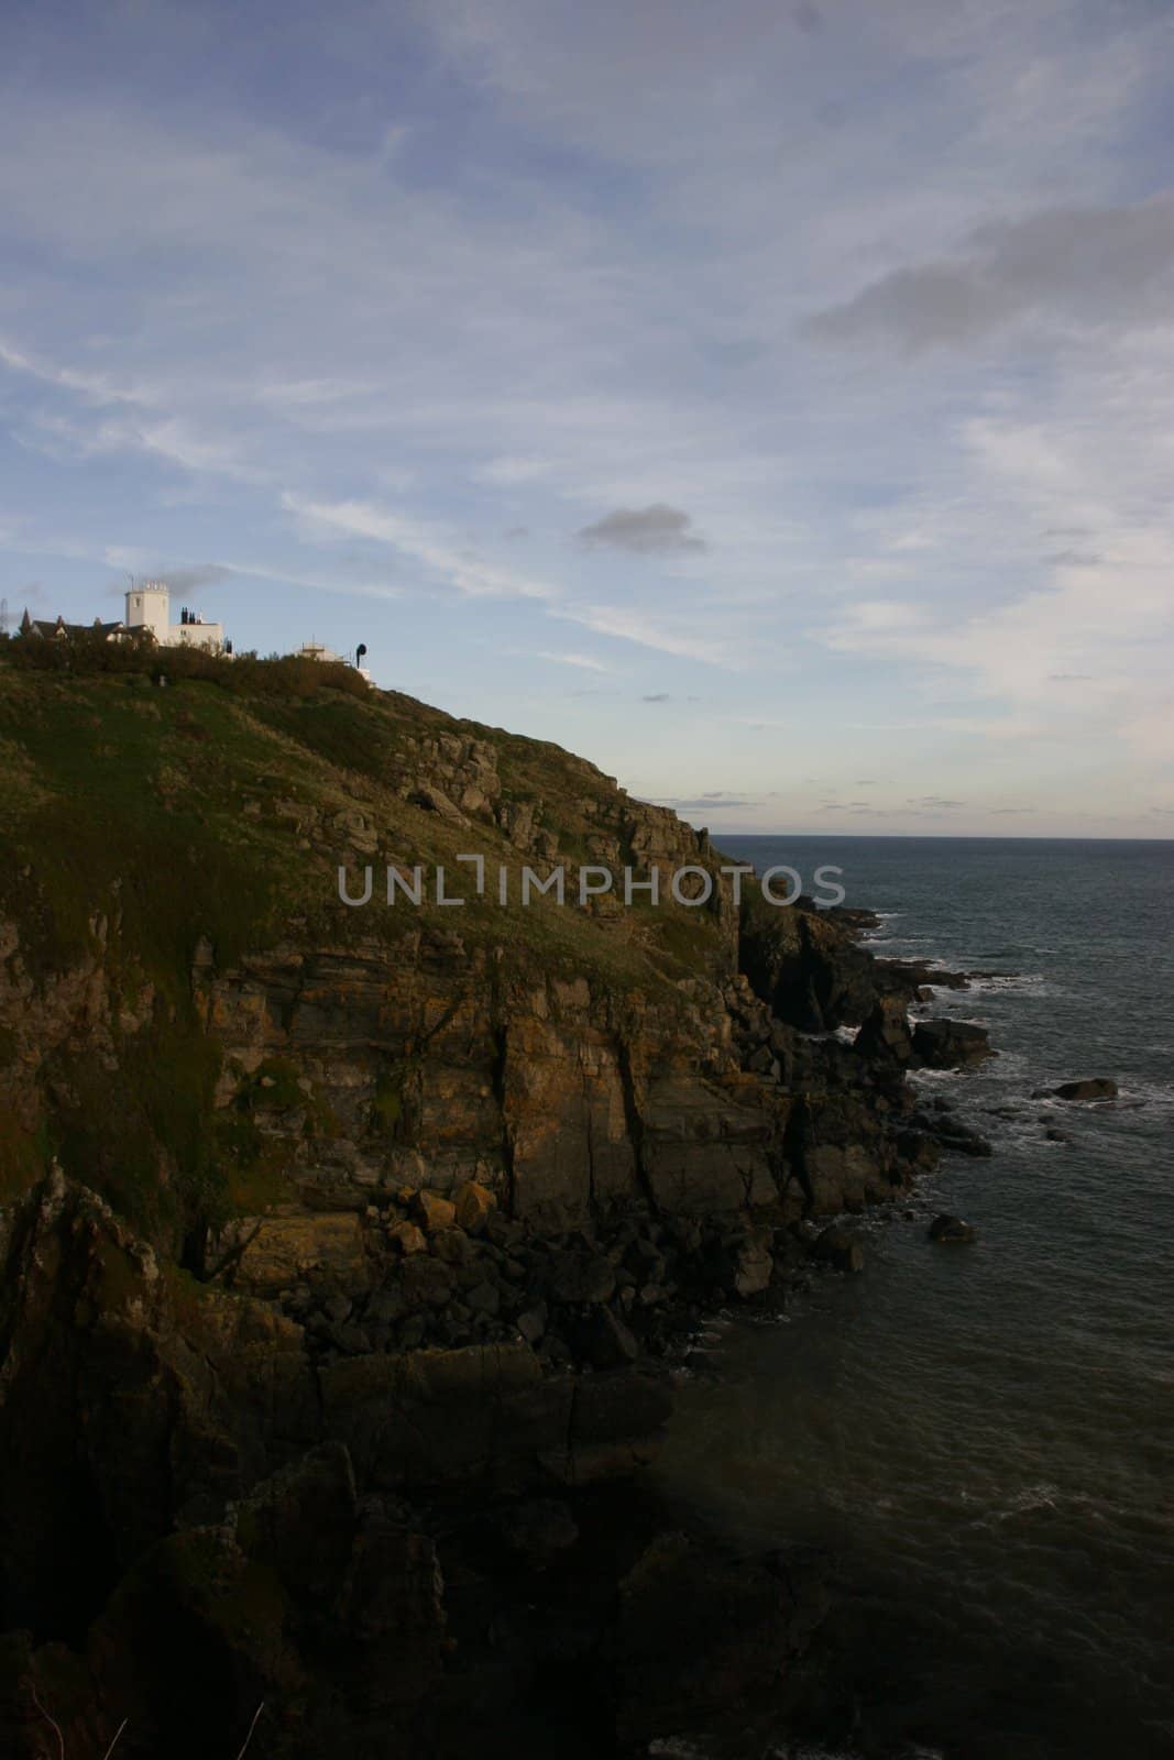
[[[199,950],[229,970],[289,940],[391,950],[451,933],[431,875],[447,866],[456,892],[472,878],[459,854],[493,876],[459,910],[461,942],[500,973],[671,1000],[667,979],[727,952],[709,910],[496,903],[502,864],[514,896],[523,864],[639,864],[648,810],[556,746],[313,662],[99,642],[0,656],[0,1192],[56,1155],[155,1230],[231,1207],[239,1130],[211,1130],[222,1058],[194,1000]],[[686,827],[679,845],[697,848]],[[424,868],[419,908],[382,903],[389,861]],[[350,910],[338,868],[361,885],[366,862],[373,903]],[[384,1116],[391,1104],[385,1079]]]

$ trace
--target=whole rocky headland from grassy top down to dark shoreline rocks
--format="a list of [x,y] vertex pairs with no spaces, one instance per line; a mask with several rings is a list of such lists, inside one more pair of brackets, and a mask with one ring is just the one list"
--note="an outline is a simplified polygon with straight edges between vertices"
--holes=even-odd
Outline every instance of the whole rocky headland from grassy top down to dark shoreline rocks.
[[[618,1739],[681,1691],[632,1610],[730,1577],[584,1487],[653,1452],[676,1331],[933,1163],[915,979],[850,920],[737,908],[704,832],[554,746],[229,676],[0,665],[5,1751],[40,1753],[37,1690],[69,1760],[120,1716],[128,1755],[218,1751],[260,1698],[269,1755],[468,1753],[484,1695],[547,1667],[519,1640],[503,1686],[484,1596],[525,1624],[563,1552],[549,1667],[642,1658],[600,1676]],[[419,906],[382,901],[389,862]],[[523,906],[523,866],[569,903]],[[662,903],[572,903],[584,866]],[[799,1654],[787,1584],[750,1605]]]

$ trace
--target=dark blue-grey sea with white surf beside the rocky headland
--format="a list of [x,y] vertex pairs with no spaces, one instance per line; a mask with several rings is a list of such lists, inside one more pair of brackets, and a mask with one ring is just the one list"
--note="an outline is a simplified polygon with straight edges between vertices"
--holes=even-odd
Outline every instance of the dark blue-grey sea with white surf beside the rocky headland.
[[[833,1549],[885,1742],[1174,1756],[1174,843],[722,848],[808,885],[834,862],[847,903],[884,913],[878,952],[994,973],[926,1012],[982,1023],[1000,1056],[915,1081],[996,1153],[868,1218],[862,1276],[730,1325],[662,1484],[746,1545]],[[1116,1077],[1118,1102],[1031,1100],[1081,1075]],[[938,1211],[977,1244],[931,1246]]]

